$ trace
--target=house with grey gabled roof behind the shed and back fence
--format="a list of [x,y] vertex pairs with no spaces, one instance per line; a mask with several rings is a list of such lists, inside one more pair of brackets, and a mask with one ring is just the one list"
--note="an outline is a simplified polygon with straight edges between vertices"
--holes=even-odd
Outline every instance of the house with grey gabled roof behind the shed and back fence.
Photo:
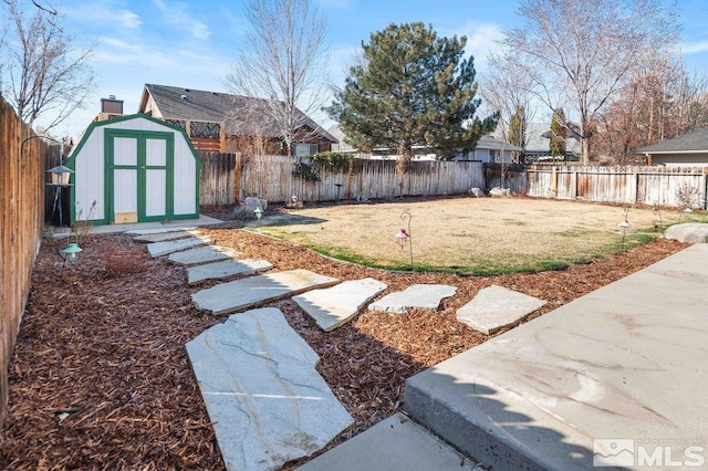
[[[198,151],[287,155],[270,106],[263,98],[194,88],[145,84],[138,112],[185,129]],[[293,156],[331,150],[337,143],[309,116],[296,109],[301,123],[292,146]]]

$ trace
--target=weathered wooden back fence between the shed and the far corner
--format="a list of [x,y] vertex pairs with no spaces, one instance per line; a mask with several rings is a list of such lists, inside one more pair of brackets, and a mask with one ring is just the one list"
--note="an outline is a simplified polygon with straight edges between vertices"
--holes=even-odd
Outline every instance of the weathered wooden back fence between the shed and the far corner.
[[352,159],[348,169],[322,169],[320,181],[293,177],[295,159],[287,156],[248,157],[239,154],[199,154],[204,164],[200,181],[202,205],[229,205],[246,196],[273,202],[337,199],[387,199],[398,196],[464,193],[485,187],[483,164],[479,161],[413,161],[403,181],[394,160]]

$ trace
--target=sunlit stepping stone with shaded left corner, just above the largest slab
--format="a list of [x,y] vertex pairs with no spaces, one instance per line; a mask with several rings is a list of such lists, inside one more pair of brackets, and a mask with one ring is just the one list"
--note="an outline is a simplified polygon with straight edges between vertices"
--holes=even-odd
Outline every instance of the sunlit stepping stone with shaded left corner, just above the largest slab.
[[352,317],[388,287],[371,278],[345,281],[336,286],[312,290],[293,297],[293,301],[312,317],[320,328],[331,332]]

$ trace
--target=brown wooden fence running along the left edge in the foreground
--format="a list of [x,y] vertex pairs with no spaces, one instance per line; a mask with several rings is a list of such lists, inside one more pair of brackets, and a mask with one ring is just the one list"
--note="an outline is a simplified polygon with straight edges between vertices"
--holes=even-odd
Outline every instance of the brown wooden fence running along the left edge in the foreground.
[[0,426],[8,406],[8,368],[30,293],[44,222],[46,145],[0,97]]

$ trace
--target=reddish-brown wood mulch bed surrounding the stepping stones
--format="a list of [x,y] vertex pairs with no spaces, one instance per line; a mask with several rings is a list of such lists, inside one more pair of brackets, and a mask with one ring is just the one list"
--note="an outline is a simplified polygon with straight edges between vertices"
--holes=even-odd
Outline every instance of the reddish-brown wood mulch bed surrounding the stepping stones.
[[[437,312],[365,312],[332,333],[291,300],[268,304],[317,352],[320,373],[354,417],[331,446],[400,410],[406,378],[489,338],[455,318],[480,289],[499,284],[546,300],[535,317],[687,247],[656,240],[564,271],[465,278],[368,270],[240,229],[205,232],[280,271],[375,278],[389,286],[382,295],[414,283],[458,287]],[[0,468],[223,470],[185,349],[225,321],[190,302],[210,284],[189,287],[184,268],[150,260],[123,234],[83,237],[82,259],[62,273],[55,250],[64,242],[44,241],[32,274],[10,365]]]

